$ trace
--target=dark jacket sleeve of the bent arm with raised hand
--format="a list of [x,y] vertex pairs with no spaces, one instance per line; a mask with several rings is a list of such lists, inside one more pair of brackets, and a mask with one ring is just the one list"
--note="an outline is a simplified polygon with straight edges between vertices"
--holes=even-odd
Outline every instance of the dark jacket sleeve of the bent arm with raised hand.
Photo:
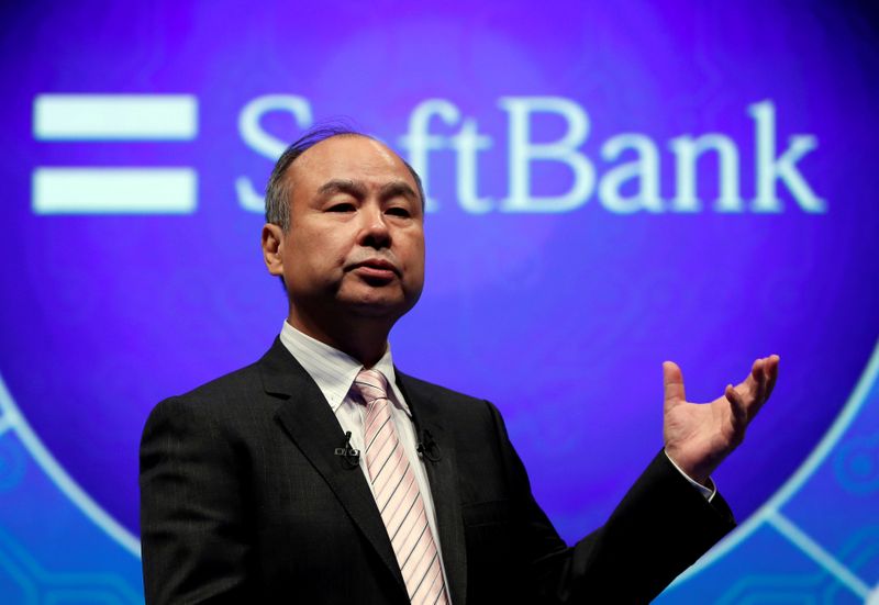
[[543,603],[648,603],[735,527],[720,494],[709,503],[659,451],[605,524],[567,547],[535,502],[500,413],[489,406]]

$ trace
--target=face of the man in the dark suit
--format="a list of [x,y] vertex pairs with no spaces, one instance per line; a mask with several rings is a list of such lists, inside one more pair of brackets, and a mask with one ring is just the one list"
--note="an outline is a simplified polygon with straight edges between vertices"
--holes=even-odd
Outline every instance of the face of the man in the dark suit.
[[397,321],[424,284],[424,215],[402,160],[361,136],[327,138],[287,173],[290,229],[279,249],[293,316]]

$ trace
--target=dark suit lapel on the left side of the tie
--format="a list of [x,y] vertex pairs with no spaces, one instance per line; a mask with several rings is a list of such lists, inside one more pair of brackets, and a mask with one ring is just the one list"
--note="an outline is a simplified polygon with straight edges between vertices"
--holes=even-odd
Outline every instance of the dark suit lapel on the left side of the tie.
[[359,467],[347,469],[334,455],[345,435],[323,393],[278,338],[259,365],[266,392],[288,400],[278,407],[277,421],[330,485],[407,596],[388,530],[366,478]]

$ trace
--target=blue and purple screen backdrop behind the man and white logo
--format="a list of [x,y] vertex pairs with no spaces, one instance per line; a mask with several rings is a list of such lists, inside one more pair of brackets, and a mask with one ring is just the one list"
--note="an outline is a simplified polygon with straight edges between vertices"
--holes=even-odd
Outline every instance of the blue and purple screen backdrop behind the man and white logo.
[[[610,4],[610,3],[608,3]],[[877,21],[848,3],[32,2],[2,9],[0,141],[0,595],[10,603],[141,597],[137,440],[152,406],[256,359],[286,303],[262,267],[259,191],[271,168],[238,119],[267,94],[349,116],[407,156],[413,110],[453,103],[449,141],[474,120],[486,212],[468,212],[450,149],[431,152],[427,282],[391,335],[415,376],[488,397],[504,414],[538,501],[569,541],[596,527],[661,445],[664,359],[693,401],[717,396],[761,355],[782,357],[774,399],[715,480],[743,526],[661,600],[849,603],[879,582],[879,121]],[[191,94],[192,141],[38,141],[46,93]],[[503,99],[553,97],[588,115],[578,153],[591,195],[566,212],[513,212]],[[781,179],[754,204],[755,124],[775,109]],[[535,114],[532,139],[569,123]],[[263,116],[279,141],[289,113]],[[657,211],[614,212],[600,182],[637,159],[602,155],[637,133],[658,158]],[[678,212],[671,139],[735,143],[743,204],[719,212],[717,167],[698,164],[701,210]],[[607,152],[605,152],[607,153]],[[37,214],[37,167],[191,167],[182,215]],[[534,195],[572,186],[531,166]],[[627,182],[637,198],[643,182]],[[536,204],[536,202],[535,202]],[[538,204],[537,204],[538,205]],[[523,383],[526,386],[523,386]],[[8,595],[8,596],[7,596]],[[874,597],[876,598],[876,597]]]

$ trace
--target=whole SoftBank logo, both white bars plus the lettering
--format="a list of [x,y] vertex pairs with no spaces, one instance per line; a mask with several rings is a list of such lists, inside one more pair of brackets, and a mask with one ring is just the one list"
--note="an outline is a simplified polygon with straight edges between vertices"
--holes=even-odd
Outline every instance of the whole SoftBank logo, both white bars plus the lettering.
[[[826,201],[799,167],[803,157],[817,149],[817,138],[794,134],[779,143],[770,100],[743,112],[743,120],[752,122],[749,141],[700,133],[681,134],[660,145],[647,134],[623,133],[601,142],[594,158],[583,150],[591,123],[577,102],[561,97],[503,97],[498,109],[507,114],[503,194],[483,191],[479,179],[486,164],[481,156],[497,149],[499,137],[480,132],[477,119],[463,115],[452,101],[422,101],[409,115],[408,132],[389,139],[422,176],[429,211],[456,203],[471,214],[566,213],[597,198],[605,210],[620,214],[778,213],[788,205],[806,213],[826,212]],[[304,97],[268,94],[249,101],[238,114],[238,133],[246,147],[271,161],[296,137],[292,132],[279,138],[263,127],[262,120],[275,112],[290,114],[299,128],[314,122]],[[565,125],[561,136],[550,142],[534,132],[537,119],[546,115],[561,119]],[[191,141],[197,134],[198,101],[191,96],[44,94],[34,100],[38,141]],[[742,145],[750,146],[753,166],[742,166]],[[431,195],[432,159],[439,154],[454,156],[457,200]],[[661,183],[661,163],[668,161],[675,167],[675,181]],[[539,163],[568,170],[568,190],[537,194],[532,176]],[[698,166],[703,178],[708,170],[716,170],[713,199],[700,194],[705,188],[700,188]],[[754,191],[747,198],[741,187],[743,170],[752,170],[754,177]],[[234,187],[242,209],[263,212],[262,182],[241,176]],[[782,188],[789,193],[788,202],[779,197]],[[661,191],[674,194],[663,198]],[[33,173],[32,206],[38,214],[191,213],[197,208],[197,175],[188,167],[40,167]]]

